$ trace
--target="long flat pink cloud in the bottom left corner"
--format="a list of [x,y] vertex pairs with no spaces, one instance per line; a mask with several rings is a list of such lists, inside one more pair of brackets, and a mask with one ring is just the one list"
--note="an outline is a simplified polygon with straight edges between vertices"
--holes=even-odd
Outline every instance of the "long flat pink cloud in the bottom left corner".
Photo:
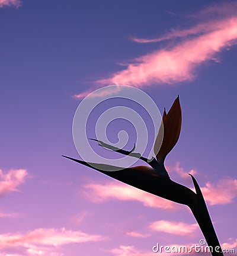
[[23,250],[24,255],[62,255],[62,253],[54,251],[55,247],[73,243],[100,241],[101,239],[103,237],[100,235],[89,235],[88,233],[70,231],[65,228],[40,228],[25,234],[0,234],[0,249],[5,251]]

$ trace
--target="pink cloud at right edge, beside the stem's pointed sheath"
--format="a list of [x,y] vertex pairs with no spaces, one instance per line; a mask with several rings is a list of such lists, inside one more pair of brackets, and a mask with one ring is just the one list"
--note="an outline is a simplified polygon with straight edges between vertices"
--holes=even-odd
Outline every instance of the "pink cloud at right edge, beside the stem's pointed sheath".
[[210,205],[232,203],[237,196],[237,180],[220,180],[216,185],[206,183],[201,191]]

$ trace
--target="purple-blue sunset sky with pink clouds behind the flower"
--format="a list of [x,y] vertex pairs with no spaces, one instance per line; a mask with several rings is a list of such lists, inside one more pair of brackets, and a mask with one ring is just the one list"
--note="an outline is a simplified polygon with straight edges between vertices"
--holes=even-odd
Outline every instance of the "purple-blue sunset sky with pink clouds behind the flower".
[[[101,87],[116,96],[106,87],[117,84],[141,89],[161,113],[180,95],[166,169],[190,188],[188,173],[196,177],[220,244],[236,255],[236,11],[237,1],[218,0],[0,0],[0,256],[155,256],[157,243],[199,245],[188,207],[62,158],[81,159],[78,105]],[[116,104],[142,111],[112,98],[88,136]],[[129,150],[127,121],[108,125],[108,137],[116,143],[123,129]]]

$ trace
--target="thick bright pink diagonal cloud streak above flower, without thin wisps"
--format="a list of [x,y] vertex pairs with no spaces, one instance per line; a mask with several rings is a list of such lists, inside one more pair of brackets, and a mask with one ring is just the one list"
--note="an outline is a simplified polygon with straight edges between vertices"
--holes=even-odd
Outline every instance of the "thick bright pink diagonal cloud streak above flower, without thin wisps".
[[[217,29],[220,23],[221,29]],[[210,25],[210,24],[209,24]],[[213,21],[213,30],[186,39],[172,49],[161,49],[137,57],[123,71],[103,79],[101,84],[125,84],[143,87],[150,84],[174,84],[195,78],[194,68],[213,59],[224,47],[236,44],[237,18]]]

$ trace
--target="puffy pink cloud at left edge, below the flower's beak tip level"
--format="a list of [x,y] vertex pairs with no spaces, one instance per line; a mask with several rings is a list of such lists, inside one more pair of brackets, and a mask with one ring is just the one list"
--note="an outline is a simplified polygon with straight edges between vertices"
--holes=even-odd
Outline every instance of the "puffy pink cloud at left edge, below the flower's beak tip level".
[[27,175],[25,169],[10,169],[6,174],[0,169],[0,196],[17,191],[18,186],[24,183]]

